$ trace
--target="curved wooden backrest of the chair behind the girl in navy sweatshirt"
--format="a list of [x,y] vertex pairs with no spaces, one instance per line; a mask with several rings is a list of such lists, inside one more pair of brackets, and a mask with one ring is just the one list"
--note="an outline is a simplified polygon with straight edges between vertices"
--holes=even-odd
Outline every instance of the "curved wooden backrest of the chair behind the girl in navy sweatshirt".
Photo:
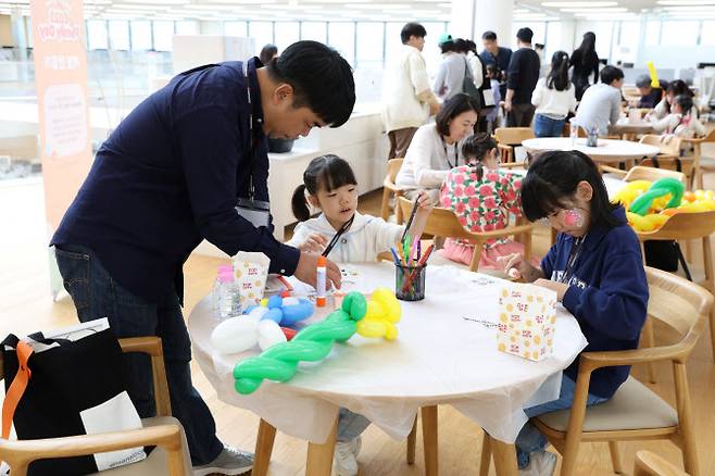
[[[654,267],[645,266],[645,276],[650,293],[648,315],[675,329],[683,339],[681,345],[692,340],[694,346],[713,305],[713,296],[694,283]],[[688,338],[689,335],[692,336]]]

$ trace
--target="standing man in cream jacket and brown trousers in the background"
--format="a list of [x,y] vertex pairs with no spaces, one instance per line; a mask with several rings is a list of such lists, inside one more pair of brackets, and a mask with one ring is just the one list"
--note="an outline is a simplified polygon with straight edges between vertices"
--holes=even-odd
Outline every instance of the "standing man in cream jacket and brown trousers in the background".
[[404,25],[400,33],[402,49],[385,75],[382,124],[390,139],[389,159],[404,158],[417,128],[439,111],[422,55],[425,36],[427,30],[421,24]]

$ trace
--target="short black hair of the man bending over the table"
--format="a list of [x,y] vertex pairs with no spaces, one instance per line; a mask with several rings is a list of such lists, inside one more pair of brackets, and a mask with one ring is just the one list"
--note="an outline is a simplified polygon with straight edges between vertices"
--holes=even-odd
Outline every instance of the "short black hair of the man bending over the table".
[[308,107],[330,127],[340,127],[355,105],[355,82],[350,64],[333,48],[298,41],[268,64],[273,80],[293,88],[293,107]]

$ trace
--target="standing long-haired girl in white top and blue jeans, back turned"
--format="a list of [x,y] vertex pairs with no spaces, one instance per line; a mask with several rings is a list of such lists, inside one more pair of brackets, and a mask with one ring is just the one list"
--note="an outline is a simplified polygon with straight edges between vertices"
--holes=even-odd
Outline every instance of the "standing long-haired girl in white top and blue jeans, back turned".
[[568,54],[556,51],[549,76],[539,79],[531,95],[536,105],[534,133],[537,137],[561,137],[568,112],[576,111],[576,88],[568,80]]

